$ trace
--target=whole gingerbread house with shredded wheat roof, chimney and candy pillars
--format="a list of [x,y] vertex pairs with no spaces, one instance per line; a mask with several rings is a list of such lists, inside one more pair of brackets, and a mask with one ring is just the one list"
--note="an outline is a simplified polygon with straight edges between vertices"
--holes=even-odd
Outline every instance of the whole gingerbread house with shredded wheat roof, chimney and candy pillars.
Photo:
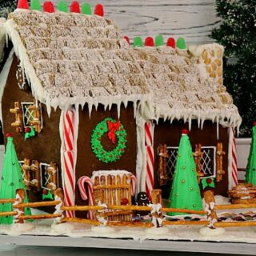
[[[99,15],[16,10],[1,74],[2,121],[14,136],[30,199],[78,179],[126,170],[136,191],[170,188],[180,130],[190,130],[198,177],[233,186],[232,130],[241,118],[222,86],[223,48],[130,47]],[[26,138],[26,139],[24,139]]]

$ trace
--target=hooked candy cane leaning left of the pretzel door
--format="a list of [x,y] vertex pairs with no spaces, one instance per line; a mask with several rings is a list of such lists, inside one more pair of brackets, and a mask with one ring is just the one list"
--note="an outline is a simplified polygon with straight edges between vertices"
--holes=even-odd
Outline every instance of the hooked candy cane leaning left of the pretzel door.
[[[88,187],[88,195],[86,192],[86,185]],[[78,179],[78,188],[80,191],[80,195],[82,200],[86,201],[89,197],[89,206],[94,205],[94,194],[93,194],[93,182],[91,179],[87,176],[82,176],[81,178]],[[94,219],[94,211],[89,210],[89,218]]]

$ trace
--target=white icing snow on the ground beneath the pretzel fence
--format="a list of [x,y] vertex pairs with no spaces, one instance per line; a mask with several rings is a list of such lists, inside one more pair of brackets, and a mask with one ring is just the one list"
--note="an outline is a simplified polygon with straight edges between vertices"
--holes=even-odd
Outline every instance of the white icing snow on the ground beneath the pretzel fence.
[[[226,204],[225,198],[218,198],[217,204]],[[254,209],[255,210],[255,209]],[[245,209],[245,211],[249,211]],[[234,212],[232,210],[232,212]],[[241,210],[239,211],[241,212]],[[39,210],[32,210],[32,214],[45,214]],[[25,226],[22,226],[25,225]],[[20,226],[20,228],[19,228]],[[136,241],[145,239],[154,240],[186,240],[186,241],[210,241],[210,242],[248,242],[256,243],[255,227],[230,227],[216,229],[214,231],[203,226],[165,226],[162,230],[141,227],[100,227],[85,225],[82,223],[55,224],[54,219],[37,220],[19,226],[0,226],[0,234],[18,236],[22,234],[46,235],[46,236],[70,236],[73,238],[132,238]],[[154,230],[156,230],[154,232]]]

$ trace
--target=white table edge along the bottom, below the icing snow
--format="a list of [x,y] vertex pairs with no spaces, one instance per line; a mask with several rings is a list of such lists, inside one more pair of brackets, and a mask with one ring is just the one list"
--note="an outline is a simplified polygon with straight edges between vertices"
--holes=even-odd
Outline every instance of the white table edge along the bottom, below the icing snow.
[[[70,248],[73,247],[73,248]],[[122,250],[120,250],[122,249]],[[54,255],[155,255],[159,250],[168,254],[190,255],[203,253],[213,254],[247,254],[255,255],[255,244],[232,242],[185,242],[185,241],[153,241],[142,242],[132,239],[110,238],[69,238],[30,236],[10,237],[0,235],[0,255],[43,255],[46,252]],[[178,252],[178,253],[177,253]],[[162,252],[166,254],[166,252]]]

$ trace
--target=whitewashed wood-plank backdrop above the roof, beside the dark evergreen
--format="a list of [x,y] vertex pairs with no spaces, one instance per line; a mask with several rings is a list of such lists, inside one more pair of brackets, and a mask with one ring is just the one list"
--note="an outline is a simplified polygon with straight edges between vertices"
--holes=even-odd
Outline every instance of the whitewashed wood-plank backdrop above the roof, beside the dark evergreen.
[[[58,0],[53,0],[57,5]],[[72,1],[67,1],[72,2]],[[78,0],[78,2],[85,2]],[[102,3],[106,18],[122,29],[124,35],[164,35],[183,37],[189,43],[212,42],[213,27],[218,26],[215,0],[89,0],[93,7]]]

